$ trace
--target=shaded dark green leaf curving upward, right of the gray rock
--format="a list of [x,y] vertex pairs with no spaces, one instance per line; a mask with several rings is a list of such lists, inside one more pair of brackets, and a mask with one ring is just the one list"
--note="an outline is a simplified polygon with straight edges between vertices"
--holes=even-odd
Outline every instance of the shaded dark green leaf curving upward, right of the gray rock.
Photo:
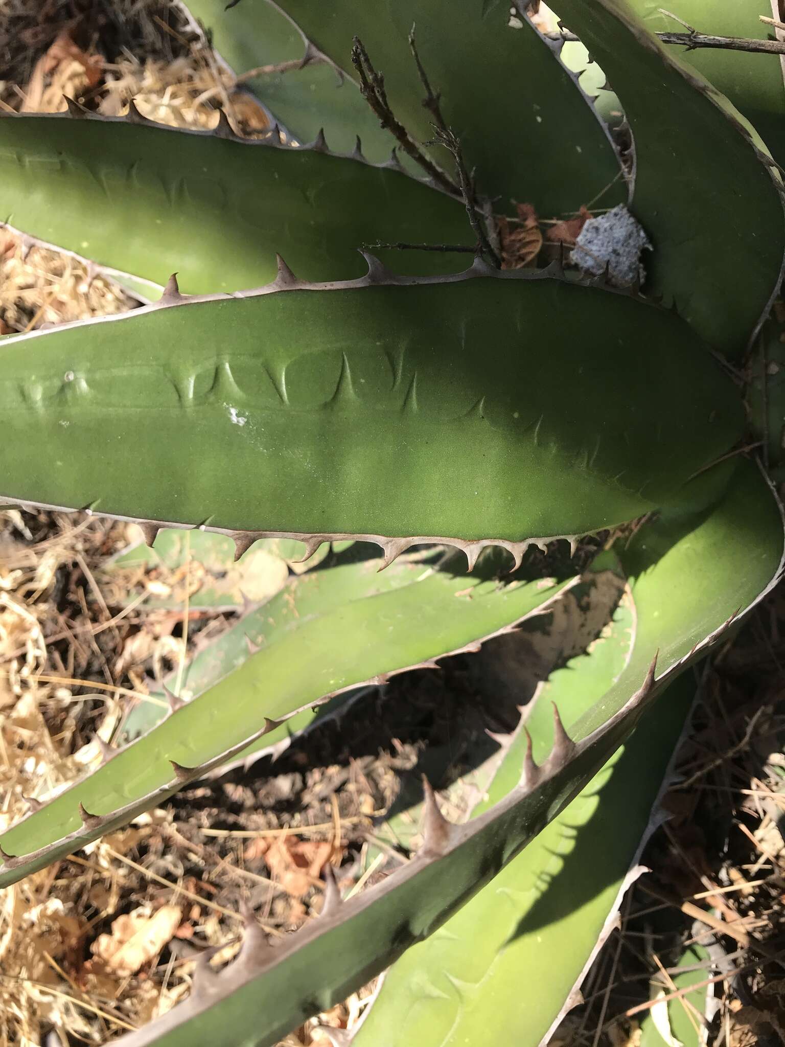
[[780,279],[779,176],[727,99],[625,0],[560,0],[557,13],[605,70],[632,130],[632,210],[654,247],[647,288],[740,357]]

